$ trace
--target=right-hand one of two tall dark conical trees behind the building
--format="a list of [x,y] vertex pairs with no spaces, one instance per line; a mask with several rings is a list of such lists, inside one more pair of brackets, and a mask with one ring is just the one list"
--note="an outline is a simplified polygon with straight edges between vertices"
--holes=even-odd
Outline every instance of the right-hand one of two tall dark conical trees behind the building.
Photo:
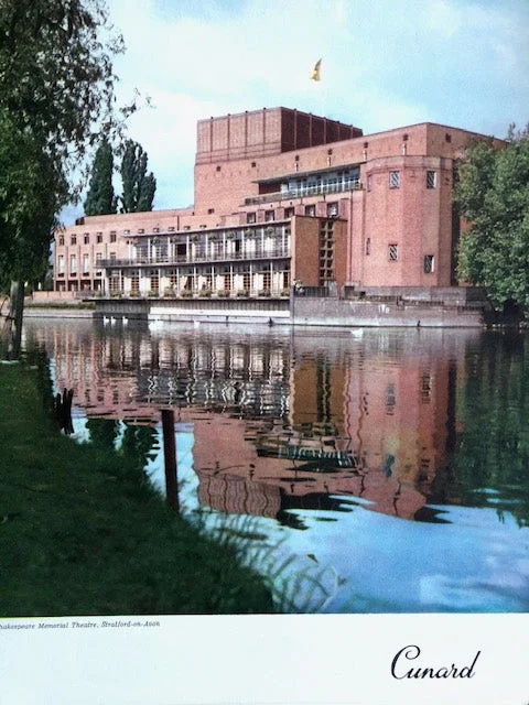
[[142,213],[152,210],[156,191],[156,180],[152,172],[147,173],[147,152],[138,142],[127,140],[121,161],[121,213]]

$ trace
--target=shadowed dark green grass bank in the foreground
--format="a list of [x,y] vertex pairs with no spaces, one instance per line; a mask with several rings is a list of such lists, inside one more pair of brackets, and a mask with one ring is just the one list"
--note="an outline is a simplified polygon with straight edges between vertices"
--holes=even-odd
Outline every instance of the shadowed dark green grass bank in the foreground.
[[273,611],[236,547],[170,510],[133,458],[62,435],[46,391],[0,365],[0,616]]

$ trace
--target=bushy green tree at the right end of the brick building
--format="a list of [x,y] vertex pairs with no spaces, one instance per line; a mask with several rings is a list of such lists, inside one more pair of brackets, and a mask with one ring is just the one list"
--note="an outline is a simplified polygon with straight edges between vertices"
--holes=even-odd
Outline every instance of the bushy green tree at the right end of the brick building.
[[529,130],[509,127],[505,149],[473,143],[458,169],[455,192],[469,224],[458,274],[484,286],[492,302],[529,311]]

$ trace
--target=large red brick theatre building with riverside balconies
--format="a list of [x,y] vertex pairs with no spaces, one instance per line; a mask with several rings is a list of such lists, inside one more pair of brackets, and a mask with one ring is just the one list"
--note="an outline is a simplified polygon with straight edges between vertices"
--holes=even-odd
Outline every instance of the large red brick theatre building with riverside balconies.
[[[190,208],[79,218],[56,291],[284,296],[306,286],[451,286],[454,164],[475,133],[375,134],[287,108],[201,120]],[[499,143],[499,142],[498,142]]]

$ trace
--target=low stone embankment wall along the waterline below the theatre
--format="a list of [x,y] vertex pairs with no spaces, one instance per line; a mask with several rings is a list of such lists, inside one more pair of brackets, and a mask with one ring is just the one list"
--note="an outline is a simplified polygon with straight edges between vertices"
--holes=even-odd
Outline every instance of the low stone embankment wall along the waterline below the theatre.
[[473,288],[377,288],[322,295],[305,288],[287,297],[111,297],[89,303],[68,292],[37,292],[29,317],[142,319],[150,322],[268,323],[336,327],[465,327],[485,325],[487,302]]

